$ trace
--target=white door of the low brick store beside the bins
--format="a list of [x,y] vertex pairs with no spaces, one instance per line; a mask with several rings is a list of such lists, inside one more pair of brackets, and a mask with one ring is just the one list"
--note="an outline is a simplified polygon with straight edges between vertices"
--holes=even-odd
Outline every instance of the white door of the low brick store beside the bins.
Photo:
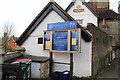
[[31,78],[40,78],[40,63],[32,62],[32,64],[31,64]]

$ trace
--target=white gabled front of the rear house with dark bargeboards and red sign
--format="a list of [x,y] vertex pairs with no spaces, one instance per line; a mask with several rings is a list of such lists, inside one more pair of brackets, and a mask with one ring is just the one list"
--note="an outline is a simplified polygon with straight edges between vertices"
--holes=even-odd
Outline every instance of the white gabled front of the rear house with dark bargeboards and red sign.
[[98,26],[99,16],[85,1],[73,0],[65,11],[83,27],[86,27],[87,23],[93,23]]

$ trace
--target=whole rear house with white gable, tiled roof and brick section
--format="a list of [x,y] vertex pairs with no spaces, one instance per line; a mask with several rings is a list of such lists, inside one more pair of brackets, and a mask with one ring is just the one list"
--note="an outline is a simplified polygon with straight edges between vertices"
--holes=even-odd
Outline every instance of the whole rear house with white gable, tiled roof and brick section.
[[119,15],[109,9],[109,0],[90,0],[89,2],[73,0],[66,8],[66,12],[83,27],[87,26],[87,23],[93,23],[115,38],[116,46],[119,46]]

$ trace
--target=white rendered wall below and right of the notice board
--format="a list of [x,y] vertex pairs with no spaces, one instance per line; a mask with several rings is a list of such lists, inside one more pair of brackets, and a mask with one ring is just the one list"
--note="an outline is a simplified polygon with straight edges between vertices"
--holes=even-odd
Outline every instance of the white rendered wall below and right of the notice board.
[[[91,76],[92,43],[81,38],[81,53],[73,54],[73,75],[78,77]],[[55,62],[70,63],[69,53],[54,53]],[[69,65],[54,64],[54,71],[70,70]],[[64,67],[63,67],[64,66]]]

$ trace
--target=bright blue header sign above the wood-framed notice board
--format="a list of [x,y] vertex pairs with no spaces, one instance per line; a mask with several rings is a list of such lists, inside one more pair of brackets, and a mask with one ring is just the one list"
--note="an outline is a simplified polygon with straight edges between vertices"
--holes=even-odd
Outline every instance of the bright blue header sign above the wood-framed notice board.
[[47,30],[73,29],[77,28],[76,21],[51,23],[47,25]]

